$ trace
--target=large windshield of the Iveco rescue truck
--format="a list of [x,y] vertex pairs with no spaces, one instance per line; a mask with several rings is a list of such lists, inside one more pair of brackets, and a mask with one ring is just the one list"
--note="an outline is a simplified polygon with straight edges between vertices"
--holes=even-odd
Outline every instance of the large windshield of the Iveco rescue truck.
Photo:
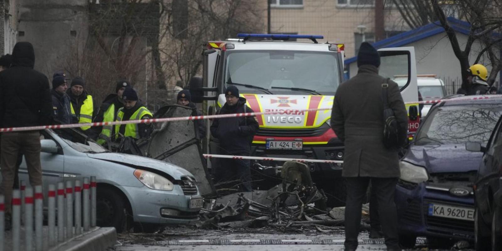
[[[337,54],[307,51],[227,51],[224,83],[255,85],[277,93],[334,94],[340,84]],[[285,87],[284,89],[272,87]],[[256,89],[239,86],[239,89]],[[293,88],[293,89],[291,89]]]

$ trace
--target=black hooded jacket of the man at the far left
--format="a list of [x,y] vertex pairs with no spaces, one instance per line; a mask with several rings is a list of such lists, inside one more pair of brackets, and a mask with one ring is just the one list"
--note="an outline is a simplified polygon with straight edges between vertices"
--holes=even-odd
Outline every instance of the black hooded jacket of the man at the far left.
[[12,56],[13,66],[0,72],[1,126],[10,128],[51,124],[49,80],[33,69],[33,46],[28,42],[19,42]]

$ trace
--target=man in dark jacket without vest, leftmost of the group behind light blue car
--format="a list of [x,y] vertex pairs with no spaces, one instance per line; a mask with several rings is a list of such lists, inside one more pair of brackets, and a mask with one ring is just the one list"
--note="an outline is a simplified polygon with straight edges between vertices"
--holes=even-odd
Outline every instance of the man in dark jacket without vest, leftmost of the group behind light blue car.
[[64,76],[55,74],[52,79],[52,117],[61,124],[70,124],[73,122],[73,115],[70,108],[70,97],[66,94],[68,83]]

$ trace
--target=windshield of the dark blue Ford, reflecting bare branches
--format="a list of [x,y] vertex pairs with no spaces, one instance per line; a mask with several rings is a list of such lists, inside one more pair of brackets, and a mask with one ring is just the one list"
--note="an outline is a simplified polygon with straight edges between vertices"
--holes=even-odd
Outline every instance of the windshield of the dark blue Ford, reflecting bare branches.
[[486,146],[502,114],[502,104],[466,104],[437,107],[424,121],[416,145],[477,142]]

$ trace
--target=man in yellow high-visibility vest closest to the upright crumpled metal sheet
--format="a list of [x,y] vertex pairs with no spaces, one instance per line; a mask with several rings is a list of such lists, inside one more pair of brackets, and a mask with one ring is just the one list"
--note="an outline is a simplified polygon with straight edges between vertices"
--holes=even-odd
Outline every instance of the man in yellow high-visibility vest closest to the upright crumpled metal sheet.
[[[117,111],[116,121],[139,120],[145,118],[152,118],[152,112],[138,99],[136,91],[127,87],[122,93],[124,106]],[[115,139],[120,136],[131,137],[136,140],[150,137],[152,127],[150,123],[131,123],[121,124],[115,126]]]

